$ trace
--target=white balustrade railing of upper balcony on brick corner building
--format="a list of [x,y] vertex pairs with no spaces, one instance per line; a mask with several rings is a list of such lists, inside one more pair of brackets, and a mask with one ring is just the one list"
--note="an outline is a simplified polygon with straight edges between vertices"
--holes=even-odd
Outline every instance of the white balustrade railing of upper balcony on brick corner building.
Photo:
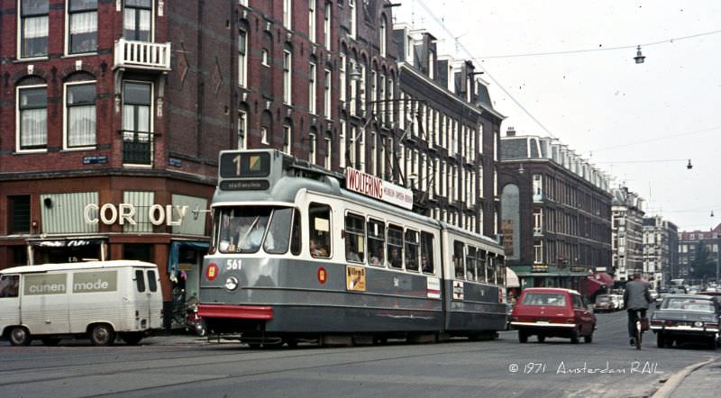
[[114,68],[170,70],[170,43],[115,41]]

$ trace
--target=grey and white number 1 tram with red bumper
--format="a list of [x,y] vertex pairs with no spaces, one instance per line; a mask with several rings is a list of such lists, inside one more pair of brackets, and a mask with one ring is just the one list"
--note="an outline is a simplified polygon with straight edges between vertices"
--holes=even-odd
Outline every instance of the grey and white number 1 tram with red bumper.
[[503,248],[411,212],[410,190],[276,149],[224,150],[218,168],[198,305],[209,332],[292,347],[505,329]]

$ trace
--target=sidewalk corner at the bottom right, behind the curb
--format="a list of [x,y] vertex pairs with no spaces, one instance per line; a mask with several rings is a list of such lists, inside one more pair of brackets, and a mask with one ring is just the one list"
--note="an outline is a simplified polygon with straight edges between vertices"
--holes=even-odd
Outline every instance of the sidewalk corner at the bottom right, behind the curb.
[[[716,398],[721,387],[721,357],[716,355],[712,362],[690,368],[690,373],[683,377],[672,391],[663,391],[663,388],[653,394],[653,398]],[[684,371],[681,371],[684,372]],[[671,383],[671,379],[666,383]],[[671,387],[671,385],[669,385]]]

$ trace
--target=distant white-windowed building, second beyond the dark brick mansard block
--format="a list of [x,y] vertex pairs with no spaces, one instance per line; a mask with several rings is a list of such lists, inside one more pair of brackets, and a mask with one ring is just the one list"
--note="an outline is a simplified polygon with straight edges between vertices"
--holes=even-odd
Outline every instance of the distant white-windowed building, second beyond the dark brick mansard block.
[[643,277],[653,288],[670,285],[679,267],[676,225],[659,216],[643,219]]

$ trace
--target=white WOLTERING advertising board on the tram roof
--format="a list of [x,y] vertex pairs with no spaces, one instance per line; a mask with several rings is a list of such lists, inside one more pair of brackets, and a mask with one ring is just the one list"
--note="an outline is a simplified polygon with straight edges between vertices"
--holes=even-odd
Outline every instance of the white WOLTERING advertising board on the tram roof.
[[363,173],[355,168],[345,168],[345,189],[370,196],[404,209],[413,209],[413,191],[384,181],[377,176]]

